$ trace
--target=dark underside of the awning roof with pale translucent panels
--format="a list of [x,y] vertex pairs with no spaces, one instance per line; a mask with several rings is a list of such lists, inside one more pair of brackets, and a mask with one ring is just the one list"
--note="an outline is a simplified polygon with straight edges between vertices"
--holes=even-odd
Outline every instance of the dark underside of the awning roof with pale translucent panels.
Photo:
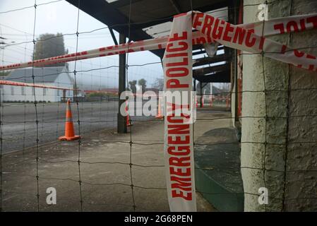
[[[79,4],[78,0],[66,1],[73,4],[73,6],[79,7],[80,10],[88,13],[93,18],[100,20],[100,22],[109,27],[111,32],[112,29],[116,30],[132,41],[169,35],[173,16],[178,13],[191,11],[192,9],[210,13],[215,17],[222,18],[222,20],[229,20],[228,8],[234,3],[234,0],[90,0],[80,1]],[[211,66],[209,70],[206,70],[209,73],[213,68],[213,64],[231,60],[231,55],[227,52],[226,48],[225,54],[215,57],[208,57],[202,45],[196,45],[193,49],[195,50],[193,55],[197,57],[203,55],[201,59],[195,60],[193,66]],[[164,55],[163,49],[151,52],[161,59]],[[222,74],[225,74],[226,81],[230,81],[230,73],[227,73],[230,67],[229,64],[226,65],[228,66],[225,71],[226,73]],[[225,69],[225,67],[222,67],[222,69]],[[205,80],[204,76],[207,77],[209,75],[207,73],[197,75],[194,72],[193,76],[202,81]],[[213,78],[218,77],[213,76]],[[220,80],[219,82],[223,82],[224,79]],[[217,82],[217,79],[214,82]]]

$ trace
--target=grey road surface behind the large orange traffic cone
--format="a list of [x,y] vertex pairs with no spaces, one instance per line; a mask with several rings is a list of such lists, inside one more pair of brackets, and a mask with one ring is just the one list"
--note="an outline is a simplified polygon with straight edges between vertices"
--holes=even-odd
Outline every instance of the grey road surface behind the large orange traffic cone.
[[[71,104],[75,131],[80,135],[116,127],[117,102],[79,102]],[[39,144],[56,141],[64,135],[66,103],[2,103],[2,152],[28,151],[36,145],[37,131]],[[38,125],[36,124],[36,112]],[[79,112],[79,113],[78,113]],[[132,117],[133,120],[147,120],[149,117]]]

